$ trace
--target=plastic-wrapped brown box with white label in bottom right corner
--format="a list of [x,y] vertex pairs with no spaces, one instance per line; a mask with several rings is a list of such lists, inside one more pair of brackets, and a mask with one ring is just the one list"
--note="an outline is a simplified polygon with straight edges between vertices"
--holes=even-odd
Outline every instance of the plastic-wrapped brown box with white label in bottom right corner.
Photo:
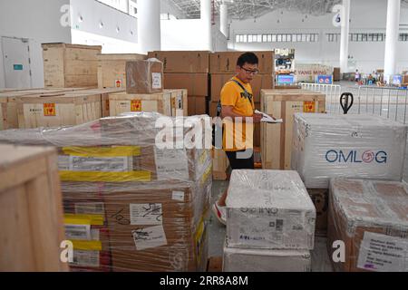
[[[367,179],[331,179],[329,255],[345,244],[336,271],[408,271],[408,187]],[[334,255],[338,257],[338,250]]]

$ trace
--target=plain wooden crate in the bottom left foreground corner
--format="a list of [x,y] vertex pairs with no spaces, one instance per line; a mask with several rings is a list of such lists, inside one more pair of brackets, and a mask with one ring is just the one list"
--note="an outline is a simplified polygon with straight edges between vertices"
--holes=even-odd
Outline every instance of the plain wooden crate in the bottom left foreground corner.
[[68,271],[56,151],[0,145],[0,271]]

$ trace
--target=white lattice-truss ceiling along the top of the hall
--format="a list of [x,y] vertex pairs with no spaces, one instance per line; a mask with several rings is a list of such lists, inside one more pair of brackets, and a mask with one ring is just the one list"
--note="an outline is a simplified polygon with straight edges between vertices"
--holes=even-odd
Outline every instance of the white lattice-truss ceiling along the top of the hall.
[[[188,18],[199,18],[200,0],[168,0]],[[215,14],[219,14],[222,0],[212,0]],[[224,0],[228,3],[228,15],[233,19],[259,17],[268,12],[284,9],[300,14],[323,15],[332,12],[332,7],[342,0]],[[408,0],[402,0],[408,6]]]

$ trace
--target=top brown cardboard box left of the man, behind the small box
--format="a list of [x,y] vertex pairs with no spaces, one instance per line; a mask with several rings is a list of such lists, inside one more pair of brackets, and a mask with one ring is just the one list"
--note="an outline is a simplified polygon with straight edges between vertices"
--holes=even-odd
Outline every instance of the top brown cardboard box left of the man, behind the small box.
[[159,51],[148,53],[148,57],[159,59],[164,73],[209,73],[209,52],[206,51]]

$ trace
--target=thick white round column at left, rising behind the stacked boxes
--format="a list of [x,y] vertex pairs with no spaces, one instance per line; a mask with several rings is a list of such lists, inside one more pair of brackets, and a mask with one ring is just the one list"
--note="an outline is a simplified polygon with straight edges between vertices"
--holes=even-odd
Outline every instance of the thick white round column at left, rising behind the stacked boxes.
[[138,0],[138,32],[143,53],[160,51],[160,0]]

